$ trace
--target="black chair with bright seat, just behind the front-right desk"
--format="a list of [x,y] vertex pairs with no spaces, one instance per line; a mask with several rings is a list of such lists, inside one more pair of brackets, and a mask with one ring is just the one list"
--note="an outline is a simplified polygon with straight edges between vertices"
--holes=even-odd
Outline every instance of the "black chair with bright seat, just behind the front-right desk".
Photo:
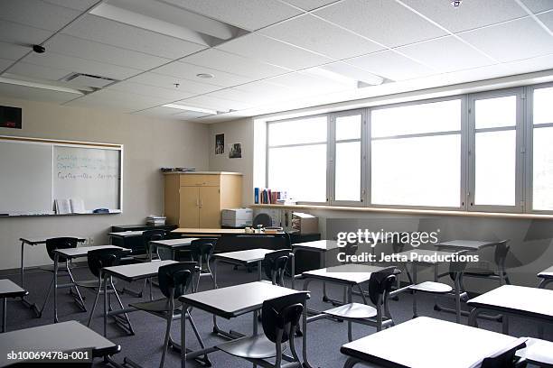
[[323,313],[348,321],[348,340],[350,342],[353,339],[351,336],[352,321],[376,327],[377,331],[380,331],[385,325],[387,327],[393,326],[394,321],[389,313],[388,299],[392,285],[396,282],[397,273],[398,270],[396,267],[392,266],[370,274],[368,293],[369,299],[374,307],[368,304],[365,292],[362,290],[361,286],[358,285],[363,304],[351,301],[350,289],[350,301],[348,304],[325,310]]

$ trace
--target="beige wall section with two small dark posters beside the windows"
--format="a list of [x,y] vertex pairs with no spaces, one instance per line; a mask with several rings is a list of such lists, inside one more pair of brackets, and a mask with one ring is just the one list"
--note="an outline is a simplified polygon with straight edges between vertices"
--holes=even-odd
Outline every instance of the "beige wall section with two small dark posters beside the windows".
[[[215,135],[225,134],[225,153],[215,154]],[[242,143],[242,158],[230,159],[229,146]],[[242,203],[248,205],[253,198],[253,123],[251,118],[231,122],[210,124],[210,170],[236,171],[244,174],[242,184]]]

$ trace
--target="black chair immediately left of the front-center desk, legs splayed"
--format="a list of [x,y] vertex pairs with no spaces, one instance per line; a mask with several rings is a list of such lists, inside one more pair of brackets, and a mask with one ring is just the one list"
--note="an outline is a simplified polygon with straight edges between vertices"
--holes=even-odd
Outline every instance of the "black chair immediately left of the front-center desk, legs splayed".
[[[159,364],[160,368],[164,366],[165,355],[167,354],[169,345],[176,345],[171,338],[171,324],[174,319],[183,318],[184,313],[188,317],[200,345],[202,345],[202,348],[204,347],[189,310],[183,310],[183,303],[178,300],[180,296],[190,289],[193,277],[199,272],[200,267],[198,267],[197,262],[177,262],[162,266],[157,272],[157,280],[159,281],[159,289],[164,294],[164,298],[129,304],[131,307],[144,310],[157,317],[162,317],[167,322],[163,353]],[[140,367],[140,365],[127,357],[124,362],[135,367]]]

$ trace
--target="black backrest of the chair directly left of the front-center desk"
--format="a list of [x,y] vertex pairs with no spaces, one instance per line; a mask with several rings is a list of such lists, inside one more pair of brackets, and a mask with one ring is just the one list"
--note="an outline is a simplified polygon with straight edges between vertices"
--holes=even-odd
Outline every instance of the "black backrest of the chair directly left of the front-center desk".
[[199,271],[196,262],[176,262],[161,266],[157,271],[159,290],[166,298],[178,298],[186,293],[192,276]]

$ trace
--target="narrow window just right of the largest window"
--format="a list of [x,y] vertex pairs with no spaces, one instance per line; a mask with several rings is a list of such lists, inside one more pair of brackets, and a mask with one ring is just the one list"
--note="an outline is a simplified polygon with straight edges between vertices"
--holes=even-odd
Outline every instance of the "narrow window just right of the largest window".
[[517,207],[520,90],[473,97],[473,189],[470,209]]

